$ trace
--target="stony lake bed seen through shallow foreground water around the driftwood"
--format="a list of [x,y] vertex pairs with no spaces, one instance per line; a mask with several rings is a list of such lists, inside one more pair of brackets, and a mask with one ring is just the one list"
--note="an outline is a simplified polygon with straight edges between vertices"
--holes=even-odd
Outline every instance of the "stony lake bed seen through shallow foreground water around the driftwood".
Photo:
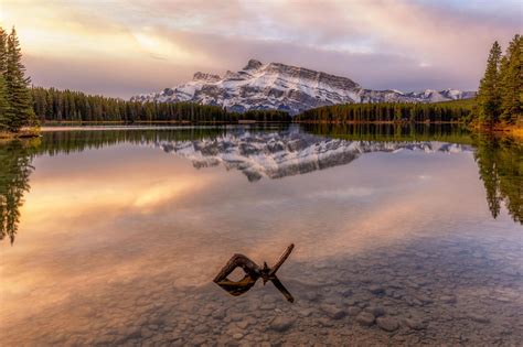
[[[492,240],[490,241],[492,242]],[[169,273],[110,282],[72,297],[6,346],[517,346],[523,340],[521,246],[440,240],[353,259],[292,263],[280,280],[230,296],[214,283],[173,288]],[[103,291],[102,291],[103,290]],[[64,310],[66,312],[64,312]]]

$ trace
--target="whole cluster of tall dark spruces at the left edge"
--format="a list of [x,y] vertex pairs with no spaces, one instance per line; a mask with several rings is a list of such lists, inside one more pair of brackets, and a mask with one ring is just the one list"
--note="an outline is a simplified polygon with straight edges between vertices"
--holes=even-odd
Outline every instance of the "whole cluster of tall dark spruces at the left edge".
[[22,127],[38,126],[30,82],[25,77],[17,31],[13,28],[8,35],[0,26],[0,134],[17,132]]

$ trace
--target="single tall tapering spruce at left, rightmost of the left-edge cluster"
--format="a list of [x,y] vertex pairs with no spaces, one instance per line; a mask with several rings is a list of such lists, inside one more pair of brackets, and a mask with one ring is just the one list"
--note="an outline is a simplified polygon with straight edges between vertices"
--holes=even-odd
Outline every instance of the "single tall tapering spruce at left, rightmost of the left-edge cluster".
[[25,66],[22,64],[20,42],[14,28],[8,36],[6,59],[6,86],[10,110],[8,112],[8,130],[19,131],[22,127],[34,126],[31,79],[25,77]]

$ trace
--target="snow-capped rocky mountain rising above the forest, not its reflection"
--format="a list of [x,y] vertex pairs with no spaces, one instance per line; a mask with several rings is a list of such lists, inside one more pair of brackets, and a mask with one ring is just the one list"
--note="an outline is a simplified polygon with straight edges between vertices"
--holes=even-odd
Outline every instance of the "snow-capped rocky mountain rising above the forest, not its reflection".
[[280,63],[262,64],[248,61],[239,72],[227,71],[224,76],[195,73],[191,82],[166,88],[160,93],[142,94],[136,101],[193,101],[218,105],[231,111],[279,109],[297,115],[319,106],[346,102],[437,102],[471,98],[473,91],[456,89],[402,93],[399,90],[365,89],[346,77]]

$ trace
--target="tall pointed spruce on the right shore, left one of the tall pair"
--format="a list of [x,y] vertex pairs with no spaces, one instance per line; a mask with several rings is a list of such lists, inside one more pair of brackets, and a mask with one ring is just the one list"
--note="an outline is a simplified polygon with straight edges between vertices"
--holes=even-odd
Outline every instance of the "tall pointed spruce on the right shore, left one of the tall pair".
[[478,90],[478,112],[481,123],[492,126],[498,121],[501,109],[500,90],[501,47],[494,42],[487,61],[487,69]]

